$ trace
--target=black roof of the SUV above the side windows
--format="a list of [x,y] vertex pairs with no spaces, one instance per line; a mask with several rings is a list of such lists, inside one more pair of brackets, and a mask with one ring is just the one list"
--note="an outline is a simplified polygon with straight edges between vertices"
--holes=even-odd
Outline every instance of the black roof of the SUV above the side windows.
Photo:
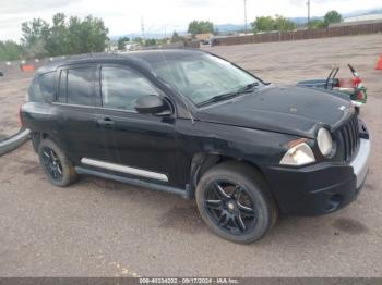
[[144,51],[130,51],[124,53],[89,53],[71,55],[62,60],[50,62],[41,66],[38,72],[45,73],[53,71],[62,65],[92,63],[99,61],[112,61],[112,62],[142,62],[144,61],[150,65],[152,62],[171,60],[176,58],[190,57],[195,54],[205,53],[204,51],[196,49],[155,49]]

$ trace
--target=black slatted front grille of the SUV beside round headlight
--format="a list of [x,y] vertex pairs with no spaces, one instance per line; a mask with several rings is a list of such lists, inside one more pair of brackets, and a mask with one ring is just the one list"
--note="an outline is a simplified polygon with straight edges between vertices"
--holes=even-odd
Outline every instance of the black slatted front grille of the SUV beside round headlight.
[[337,151],[343,161],[350,161],[355,153],[357,153],[360,139],[358,128],[358,117],[353,115],[344,125],[336,132]]

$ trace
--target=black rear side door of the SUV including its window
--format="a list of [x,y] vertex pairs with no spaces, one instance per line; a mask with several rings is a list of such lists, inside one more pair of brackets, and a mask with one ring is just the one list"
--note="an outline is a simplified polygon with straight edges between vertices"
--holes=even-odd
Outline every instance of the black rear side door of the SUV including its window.
[[95,95],[97,65],[70,65],[58,71],[57,114],[53,133],[68,156],[79,164],[82,157],[105,159],[104,144],[95,121],[95,108],[100,104]]

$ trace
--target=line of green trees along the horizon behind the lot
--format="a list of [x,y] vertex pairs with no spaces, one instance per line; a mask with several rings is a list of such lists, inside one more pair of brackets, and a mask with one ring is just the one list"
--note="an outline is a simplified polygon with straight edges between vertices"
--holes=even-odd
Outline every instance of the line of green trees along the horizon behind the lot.
[[[323,20],[312,20],[309,28],[324,28],[342,21],[343,17],[338,12],[330,11]],[[251,23],[251,27],[252,33],[263,33],[294,30],[297,26],[289,18],[275,15],[274,17],[256,17]],[[102,52],[108,47],[108,32],[103,20],[92,15],[80,18],[77,16],[67,17],[63,13],[57,13],[52,17],[51,25],[41,18],[34,18],[22,23],[21,44],[0,40],[0,61]],[[188,33],[194,37],[198,34],[218,34],[218,30],[211,21],[192,21],[189,23]],[[156,46],[182,40],[184,38],[177,32],[174,32],[170,38],[165,39],[144,39],[142,37],[132,39],[140,46]],[[129,41],[131,41],[130,38],[120,37],[117,41],[118,50],[124,50],[126,42]]]

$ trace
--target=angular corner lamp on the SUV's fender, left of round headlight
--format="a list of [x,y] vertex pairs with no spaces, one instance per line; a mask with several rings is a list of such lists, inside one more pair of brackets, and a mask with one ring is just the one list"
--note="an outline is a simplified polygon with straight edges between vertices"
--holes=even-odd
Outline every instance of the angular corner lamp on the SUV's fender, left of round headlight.
[[300,166],[315,161],[312,149],[307,142],[299,142],[290,147],[284,154],[279,164]]

